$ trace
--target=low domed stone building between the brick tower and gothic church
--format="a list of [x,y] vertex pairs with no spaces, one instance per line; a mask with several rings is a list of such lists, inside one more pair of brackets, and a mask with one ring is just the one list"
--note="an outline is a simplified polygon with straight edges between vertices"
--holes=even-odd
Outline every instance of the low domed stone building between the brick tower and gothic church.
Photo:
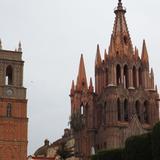
[[44,141],[44,145],[38,148],[32,158],[51,158],[55,160],[60,160],[61,154],[65,154],[66,160],[78,160],[74,156],[75,152],[75,138],[73,137],[71,130],[66,128],[64,130],[64,135],[62,138],[56,140],[52,144],[48,140]]

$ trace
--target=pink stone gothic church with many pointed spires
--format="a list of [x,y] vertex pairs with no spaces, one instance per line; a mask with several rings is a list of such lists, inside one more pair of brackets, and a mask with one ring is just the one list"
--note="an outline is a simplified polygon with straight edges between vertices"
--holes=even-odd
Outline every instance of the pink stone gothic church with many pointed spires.
[[97,45],[95,86],[92,78],[87,82],[81,55],[77,81],[72,81],[70,90],[75,155],[83,160],[99,150],[123,148],[128,137],[149,132],[159,121],[159,94],[146,42],[141,53],[133,46],[121,0],[114,13],[104,58]]

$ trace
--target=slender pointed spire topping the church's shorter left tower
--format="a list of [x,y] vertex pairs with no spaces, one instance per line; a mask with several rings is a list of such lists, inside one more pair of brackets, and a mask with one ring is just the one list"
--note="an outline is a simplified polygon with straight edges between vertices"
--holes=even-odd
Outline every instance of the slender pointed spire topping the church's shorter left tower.
[[87,85],[85,65],[84,65],[84,60],[83,60],[83,54],[81,54],[79,72],[77,76],[77,89],[82,90],[82,89],[87,89],[87,88],[88,88],[88,85]]

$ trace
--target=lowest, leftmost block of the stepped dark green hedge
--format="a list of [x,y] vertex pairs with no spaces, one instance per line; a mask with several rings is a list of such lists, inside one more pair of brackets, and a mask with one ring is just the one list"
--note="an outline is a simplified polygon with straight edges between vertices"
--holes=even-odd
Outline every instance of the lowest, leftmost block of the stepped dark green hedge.
[[92,160],[124,160],[124,149],[99,151],[91,157]]

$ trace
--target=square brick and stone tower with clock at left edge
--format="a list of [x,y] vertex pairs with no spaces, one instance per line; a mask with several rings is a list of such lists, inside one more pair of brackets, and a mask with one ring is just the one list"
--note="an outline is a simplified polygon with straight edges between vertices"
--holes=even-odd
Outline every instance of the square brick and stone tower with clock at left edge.
[[27,100],[23,87],[22,48],[0,44],[0,159],[27,159]]

